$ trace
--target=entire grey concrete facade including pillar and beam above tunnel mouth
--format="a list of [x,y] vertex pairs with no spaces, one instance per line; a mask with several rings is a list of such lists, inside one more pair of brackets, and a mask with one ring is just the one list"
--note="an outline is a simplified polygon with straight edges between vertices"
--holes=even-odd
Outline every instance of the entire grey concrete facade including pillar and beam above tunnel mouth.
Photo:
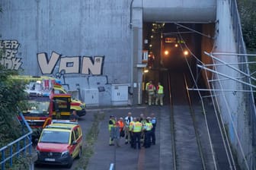
[[[0,5],[2,65],[60,78],[69,90],[104,87],[102,105],[110,103],[111,83],[133,85],[130,93],[138,103],[143,21],[156,16],[155,21],[205,22],[216,15],[216,0],[2,0]],[[186,12],[178,14],[181,9]]]

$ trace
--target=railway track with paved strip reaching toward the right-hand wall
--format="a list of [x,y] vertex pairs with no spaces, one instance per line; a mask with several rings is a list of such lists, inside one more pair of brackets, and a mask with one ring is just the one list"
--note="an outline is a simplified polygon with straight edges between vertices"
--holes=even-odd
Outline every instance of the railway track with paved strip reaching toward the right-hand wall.
[[171,105],[173,169],[238,169],[231,160],[217,116],[210,109],[209,115],[203,114],[198,93],[187,91],[191,86],[189,76],[168,71],[163,80]]

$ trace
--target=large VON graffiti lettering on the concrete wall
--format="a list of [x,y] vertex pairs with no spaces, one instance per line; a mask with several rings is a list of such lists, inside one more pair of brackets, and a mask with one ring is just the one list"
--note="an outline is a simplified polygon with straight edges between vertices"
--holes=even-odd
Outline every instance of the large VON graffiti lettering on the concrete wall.
[[104,56],[62,56],[52,52],[50,58],[45,52],[37,54],[37,61],[42,74],[53,74],[57,68],[58,73],[64,74],[92,74],[101,75],[103,71]]

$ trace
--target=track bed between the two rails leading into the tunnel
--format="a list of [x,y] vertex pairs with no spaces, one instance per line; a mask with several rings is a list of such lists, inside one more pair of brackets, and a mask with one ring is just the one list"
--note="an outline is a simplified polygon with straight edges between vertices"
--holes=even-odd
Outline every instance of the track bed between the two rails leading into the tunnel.
[[174,169],[206,169],[184,73],[168,74]]

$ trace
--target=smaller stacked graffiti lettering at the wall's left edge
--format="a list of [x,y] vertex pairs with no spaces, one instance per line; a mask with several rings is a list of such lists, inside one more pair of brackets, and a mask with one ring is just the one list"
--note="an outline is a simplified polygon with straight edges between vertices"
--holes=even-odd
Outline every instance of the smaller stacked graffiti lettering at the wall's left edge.
[[0,40],[0,65],[10,70],[18,70],[21,68],[21,58],[18,58],[18,40]]

